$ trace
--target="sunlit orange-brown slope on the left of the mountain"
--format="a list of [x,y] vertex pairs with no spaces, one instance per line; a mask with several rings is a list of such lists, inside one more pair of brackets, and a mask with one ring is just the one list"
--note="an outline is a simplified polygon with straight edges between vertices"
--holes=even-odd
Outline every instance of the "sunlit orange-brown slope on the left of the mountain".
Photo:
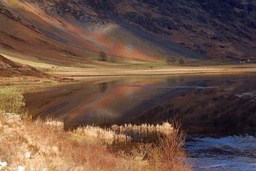
[[[0,13],[0,53],[36,67],[159,66],[166,57],[199,57],[193,51],[164,43],[154,34],[118,22],[84,24],[71,16],[47,13],[26,1],[3,1]],[[109,62],[100,63],[103,50]],[[12,59],[13,59],[12,58]],[[16,60],[16,59],[13,59]]]

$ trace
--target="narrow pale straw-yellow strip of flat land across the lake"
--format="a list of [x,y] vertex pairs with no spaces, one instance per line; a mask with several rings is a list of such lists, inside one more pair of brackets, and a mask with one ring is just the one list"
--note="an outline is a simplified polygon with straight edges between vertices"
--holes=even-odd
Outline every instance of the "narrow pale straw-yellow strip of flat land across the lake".
[[225,66],[170,66],[170,68],[147,69],[88,69],[72,68],[70,70],[56,69],[47,73],[55,77],[108,77],[108,76],[137,76],[137,75],[184,75],[206,73],[253,73],[256,64],[225,65]]

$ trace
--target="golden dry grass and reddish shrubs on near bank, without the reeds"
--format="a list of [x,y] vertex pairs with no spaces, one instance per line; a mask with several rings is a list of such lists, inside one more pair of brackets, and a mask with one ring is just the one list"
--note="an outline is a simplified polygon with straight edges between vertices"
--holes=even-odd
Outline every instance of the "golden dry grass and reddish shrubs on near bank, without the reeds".
[[[17,170],[18,165],[27,170],[191,170],[182,148],[184,133],[178,131],[156,144],[118,153],[74,135],[76,131],[63,131],[56,121],[16,121],[0,114],[0,160],[7,161],[8,170]],[[31,158],[25,158],[26,152]]]

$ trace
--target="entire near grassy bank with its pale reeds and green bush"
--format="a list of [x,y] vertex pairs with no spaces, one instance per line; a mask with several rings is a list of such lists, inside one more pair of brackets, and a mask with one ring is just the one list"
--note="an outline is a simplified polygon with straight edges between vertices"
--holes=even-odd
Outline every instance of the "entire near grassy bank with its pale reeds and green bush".
[[[1,109],[20,112],[24,106],[22,94],[9,88],[2,92],[18,98],[11,98],[17,105]],[[10,103],[8,98],[1,99],[4,101]],[[21,119],[3,113],[0,113],[0,161],[6,161],[7,170],[17,170],[19,166],[26,170],[191,170],[183,149],[186,135],[175,124],[115,125],[109,130],[87,126],[64,131],[60,121],[32,121],[26,115]],[[159,131],[161,136],[156,143],[138,144],[130,151],[113,152],[104,145],[106,140],[116,140],[116,135],[124,138],[125,131],[131,130]],[[31,156],[26,156],[28,153]]]

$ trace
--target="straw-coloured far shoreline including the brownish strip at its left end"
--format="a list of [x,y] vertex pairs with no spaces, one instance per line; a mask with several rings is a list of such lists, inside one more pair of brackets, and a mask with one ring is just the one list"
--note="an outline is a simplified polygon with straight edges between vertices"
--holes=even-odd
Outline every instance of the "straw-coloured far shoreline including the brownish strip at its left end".
[[[44,71],[44,70],[42,70]],[[58,68],[45,71],[48,75],[59,80],[37,77],[0,77],[0,85],[17,84],[47,84],[55,82],[76,82],[83,78],[92,77],[128,77],[128,76],[161,76],[161,75],[206,75],[206,74],[232,74],[256,73],[256,64],[225,65],[225,66],[170,66],[170,68],[142,68],[142,69],[116,69],[116,68]],[[67,79],[71,78],[70,81]],[[63,81],[60,81],[63,80]]]

